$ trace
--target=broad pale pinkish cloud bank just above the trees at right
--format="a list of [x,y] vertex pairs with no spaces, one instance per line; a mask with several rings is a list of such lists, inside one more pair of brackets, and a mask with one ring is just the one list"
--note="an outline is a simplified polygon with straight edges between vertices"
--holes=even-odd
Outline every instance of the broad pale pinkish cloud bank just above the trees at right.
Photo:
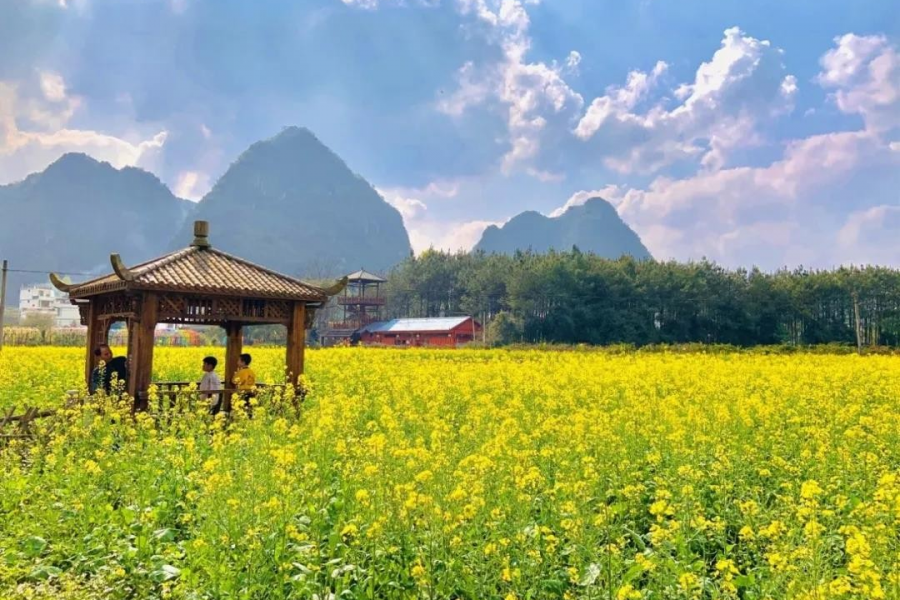
[[862,131],[792,142],[783,158],[766,167],[661,177],[645,189],[609,187],[604,197],[657,258],[707,256],[767,268],[831,266],[848,257],[834,251],[835,222],[854,206],[871,202],[857,196],[854,178],[862,169],[900,183],[900,156]]

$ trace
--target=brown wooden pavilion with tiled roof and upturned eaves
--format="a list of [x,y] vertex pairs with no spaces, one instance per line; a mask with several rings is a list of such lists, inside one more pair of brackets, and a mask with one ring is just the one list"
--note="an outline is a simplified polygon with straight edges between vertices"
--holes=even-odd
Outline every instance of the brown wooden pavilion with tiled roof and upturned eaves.
[[320,288],[214,249],[209,224],[194,223],[194,241],[183,250],[128,268],[110,256],[113,272],[79,284],[55,274],[50,281],[69,294],[87,326],[85,379],[97,366],[94,349],[107,343],[110,326],[128,328],[128,386],[135,409],[146,408],[153,372],[153,335],[159,323],[219,325],[227,334],[226,386],[237,370],[244,325],[287,327],[286,372],[289,381],[303,373],[306,329],[313,315],[346,285],[346,278]]

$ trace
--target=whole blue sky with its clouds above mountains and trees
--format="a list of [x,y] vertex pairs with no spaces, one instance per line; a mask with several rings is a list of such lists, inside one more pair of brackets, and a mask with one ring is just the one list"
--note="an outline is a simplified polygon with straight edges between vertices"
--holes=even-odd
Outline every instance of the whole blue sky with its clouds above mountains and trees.
[[0,183],[199,199],[309,127],[422,250],[593,195],[662,259],[900,266],[895,0],[5,0]]

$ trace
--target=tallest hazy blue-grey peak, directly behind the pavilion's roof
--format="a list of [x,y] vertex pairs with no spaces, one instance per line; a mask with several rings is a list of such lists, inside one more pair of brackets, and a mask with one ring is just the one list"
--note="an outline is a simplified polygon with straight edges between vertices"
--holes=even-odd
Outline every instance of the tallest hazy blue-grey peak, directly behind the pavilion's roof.
[[[300,127],[250,146],[191,216],[214,245],[288,275],[386,271],[412,252],[397,209]],[[172,246],[190,239],[186,223]]]

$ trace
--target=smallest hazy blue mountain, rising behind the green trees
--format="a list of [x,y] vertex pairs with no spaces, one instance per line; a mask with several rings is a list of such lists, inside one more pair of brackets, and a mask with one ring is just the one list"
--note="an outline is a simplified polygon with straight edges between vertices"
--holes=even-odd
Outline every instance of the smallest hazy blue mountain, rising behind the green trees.
[[517,250],[543,253],[551,249],[571,250],[573,246],[604,258],[622,255],[652,258],[641,238],[625,224],[616,209],[599,197],[573,206],[558,217],[525,211],[502,227],[491,225],[484,230],[474,250],[488,254],[513,254]]

